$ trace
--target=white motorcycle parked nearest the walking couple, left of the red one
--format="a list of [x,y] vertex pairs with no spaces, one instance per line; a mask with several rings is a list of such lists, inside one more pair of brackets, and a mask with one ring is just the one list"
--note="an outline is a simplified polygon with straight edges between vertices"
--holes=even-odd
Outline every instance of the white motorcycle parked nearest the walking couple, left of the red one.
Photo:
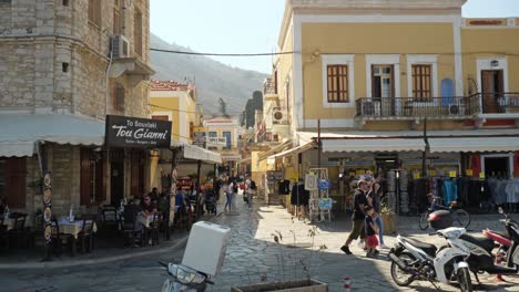
[[466,262],[470,250],[459,240],[465,232],[465,228],[456,227],[438,230],[437,234],[448,242],[440,250],[434,244],[398,234],[396,247],[389,251],[393,281],[399,286],[407,286],[415,280],[430,281],[432,285],[434,281],[449,283],[456,280],[461,291],[472,291]]

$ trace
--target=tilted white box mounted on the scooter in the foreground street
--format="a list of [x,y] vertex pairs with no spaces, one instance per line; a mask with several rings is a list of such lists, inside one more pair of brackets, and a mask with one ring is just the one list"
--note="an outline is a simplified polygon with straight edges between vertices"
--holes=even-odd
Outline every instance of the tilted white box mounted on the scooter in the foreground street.
[[182,264],[215,275],[222,269],[231,228],[200,221],[191,228]]

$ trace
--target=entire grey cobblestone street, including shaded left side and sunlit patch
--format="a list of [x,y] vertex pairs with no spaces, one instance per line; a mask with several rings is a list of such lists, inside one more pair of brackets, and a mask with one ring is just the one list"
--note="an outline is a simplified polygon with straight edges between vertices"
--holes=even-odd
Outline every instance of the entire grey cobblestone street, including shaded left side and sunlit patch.
[[[257,205],[250,211],[238,196],[237,213],[221,213],[212,219],[232,228],[223,271],[214,278],[213,291],[230,291],[233,285],[307,275],[328,283],[329,291],[344,291],[345,275],[350,277],[354,291],[436,291],[428,282],[414,282],[407,289],[396,286],[389,275],[390,263],[384,255],[387,250],[381,251],[379,259],[368,259],[354,242],[354,255],[342,253],[339,247],[350,225],[345,217],[318,223],[316,236],[309,237],[313,225],[292,220],[292,216],[279,206]],[[418,230],[417,218],[405,219],[408,220],[400,218],[398,221],[401,233],[441,243],[438,237]],[[491,219],[476,217],[471,228],[481,230],[488,223],[493,225],[490,228],[497,228],[498,225],[493,223],[497,219],[497,216]],[[272,236],[276,232],[283,237],[279,243],[275,243]],[[385,241],[393,246],[395,237],[386,237]],[[67,269],[0,270],[0,291],[159,291],[166,273],[156,261],[180,261],[182,252],[181,248],[174,252]],[[485,285],[477,290],[519,291],[518,277],[506,279],[509,282],[497,283],[495,277],[480,275]],[[455,286],[444,284],[438,284],[438,288],[456,291]]]

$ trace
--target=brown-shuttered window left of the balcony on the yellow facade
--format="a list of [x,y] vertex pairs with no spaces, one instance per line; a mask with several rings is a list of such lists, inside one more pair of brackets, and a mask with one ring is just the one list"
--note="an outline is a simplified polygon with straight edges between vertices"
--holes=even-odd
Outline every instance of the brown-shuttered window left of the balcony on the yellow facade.
[[327,65],[328,103],[348,103],[348,66]]

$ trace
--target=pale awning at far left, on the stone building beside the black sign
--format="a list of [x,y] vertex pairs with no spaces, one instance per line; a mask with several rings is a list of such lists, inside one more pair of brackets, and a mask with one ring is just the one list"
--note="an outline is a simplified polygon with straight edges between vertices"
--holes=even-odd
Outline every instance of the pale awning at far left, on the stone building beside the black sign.
[[17,155],[24,156],[32,156],[33,146],[29,144],[39,140],[71,145],[104,144],[104,121],[100,119],[61,114],[2,114],[0,125],[0,157],[12,156],[16,146],[6,143],[20,144],[24,150],[18,149]]

